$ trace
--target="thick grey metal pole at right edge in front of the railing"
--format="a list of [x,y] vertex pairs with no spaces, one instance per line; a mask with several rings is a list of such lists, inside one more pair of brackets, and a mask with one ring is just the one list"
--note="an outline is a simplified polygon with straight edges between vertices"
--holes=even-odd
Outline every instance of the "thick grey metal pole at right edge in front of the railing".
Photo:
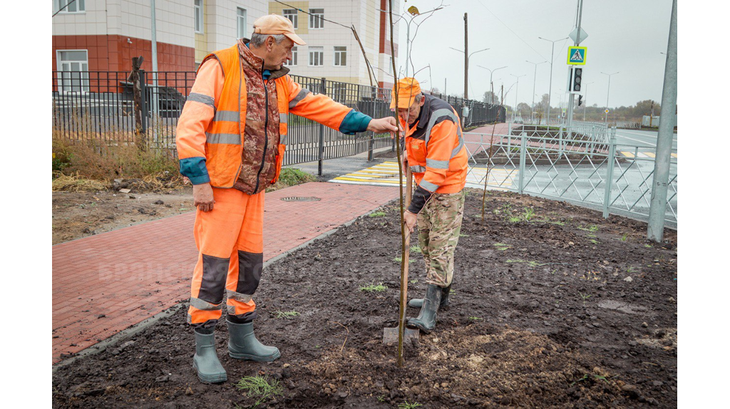
[[669,183],[669,161],[672,153],[672,135],[677,109],[677,0],[672,1],[672,20],[669,23],[669,44],[666,46],[664,90],[661,92],[659,137],[656,141],[654,180],[649,208],[648,239],[661,241],[664,237],[666,190]]

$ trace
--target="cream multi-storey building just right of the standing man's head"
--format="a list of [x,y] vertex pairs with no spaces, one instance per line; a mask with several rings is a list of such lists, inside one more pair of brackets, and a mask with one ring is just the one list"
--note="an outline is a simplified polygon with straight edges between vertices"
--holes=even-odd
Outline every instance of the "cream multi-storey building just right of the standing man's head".
[[[398,15],[395,7],[400,7],[400,2],[393,3],[393,12]],[[363,52],[350,29],[353,26],[380,87],[393,84],[387,9],[387,0],[269,0],[269,14],[287,17],[296,34],[307,42],[292,50],[288,63],[292,74],[370,85]],[[393,35],[397,58],[397,26]]]

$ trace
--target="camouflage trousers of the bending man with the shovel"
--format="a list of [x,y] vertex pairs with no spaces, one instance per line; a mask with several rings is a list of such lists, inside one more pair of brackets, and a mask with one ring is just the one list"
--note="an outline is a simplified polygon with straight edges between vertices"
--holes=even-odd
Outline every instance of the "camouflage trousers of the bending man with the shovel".
[[426,284],[451,284],[465,198],[464,190],[434,193],[418,214],[418,245],[426,262]]

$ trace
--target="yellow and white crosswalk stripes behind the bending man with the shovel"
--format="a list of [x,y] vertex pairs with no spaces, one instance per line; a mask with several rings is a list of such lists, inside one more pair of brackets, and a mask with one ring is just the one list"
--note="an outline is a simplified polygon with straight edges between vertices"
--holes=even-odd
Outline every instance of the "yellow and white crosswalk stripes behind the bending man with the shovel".
[[[347,184],[368,184],[372,186],[398,186],[398,163],[383,162],[369,168],[338,176],[328,182]],[[466,187],[484,187],[484,176],[487,168],[469,168],[466,173]],[[517,169],[491,168],[489,171],[488,190],[508,190],[512,181],[517,179]],[[405,175],[402,178],[405,184]]]

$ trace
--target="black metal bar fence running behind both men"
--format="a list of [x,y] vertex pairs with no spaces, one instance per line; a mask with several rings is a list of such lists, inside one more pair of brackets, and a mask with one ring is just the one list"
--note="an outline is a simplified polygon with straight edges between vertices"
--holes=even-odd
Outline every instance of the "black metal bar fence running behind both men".
[[[151,149],[175,152],[177,117],[190,93],[195,72],[139,71],[140,97],[134,101],[134,84],[122,71],[53,71],[53,132],[71,141],[103,141],[107,144],[131,144],[142,132]],[[364,112],[371,117],[391,115],[391,90],[325,78],[299,77],[294,81],[313,93],[324,93],[334,101]],[[464,127],[504,122],[504,108],[480,101],[434,94],[451,104]],[[469,114],[464,117],[464,106]],[[142,112],[137,129],[135,109]],[[391,147],[389,134],[372,132],[347,136],[312,120],[291,114],[288,120],[288,144],[285,165],[346,157]]]

